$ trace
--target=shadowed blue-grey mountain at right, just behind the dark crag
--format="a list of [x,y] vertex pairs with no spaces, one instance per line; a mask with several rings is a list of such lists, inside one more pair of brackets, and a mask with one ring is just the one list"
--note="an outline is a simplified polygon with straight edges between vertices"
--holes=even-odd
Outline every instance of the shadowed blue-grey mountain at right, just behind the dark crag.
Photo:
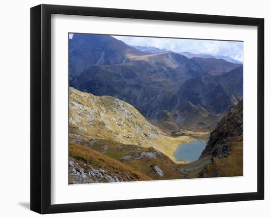
[[228,112],[242,99],[242,67],[222,75],[203,75],[186,80],[176,91],[179,105],[190,101],[211,113]]

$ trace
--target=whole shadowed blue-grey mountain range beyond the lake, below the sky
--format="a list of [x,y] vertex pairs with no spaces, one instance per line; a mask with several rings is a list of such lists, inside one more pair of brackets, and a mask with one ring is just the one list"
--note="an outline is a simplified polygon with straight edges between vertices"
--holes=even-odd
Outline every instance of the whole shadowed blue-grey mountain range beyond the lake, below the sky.
[[242,99],[242,64],[170,51],[146,53],[109,35],[74,34],[69,85],[123,100],[169,131],[210,131]]

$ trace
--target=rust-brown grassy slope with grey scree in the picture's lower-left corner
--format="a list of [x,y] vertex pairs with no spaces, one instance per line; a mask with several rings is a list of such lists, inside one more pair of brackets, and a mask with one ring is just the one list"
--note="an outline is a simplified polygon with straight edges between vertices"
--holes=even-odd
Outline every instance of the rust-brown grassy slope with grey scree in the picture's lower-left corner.
[[127,164],[69,143],[69,184],[151,180]]

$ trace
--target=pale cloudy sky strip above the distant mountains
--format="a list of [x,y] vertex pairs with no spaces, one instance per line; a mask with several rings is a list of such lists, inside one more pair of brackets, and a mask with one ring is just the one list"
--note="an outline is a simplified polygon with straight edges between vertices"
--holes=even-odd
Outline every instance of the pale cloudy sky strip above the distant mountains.
[[243,62],[243,42],[115,35],[113,37],[129,45],[151,46],[172,52],[223,55]]

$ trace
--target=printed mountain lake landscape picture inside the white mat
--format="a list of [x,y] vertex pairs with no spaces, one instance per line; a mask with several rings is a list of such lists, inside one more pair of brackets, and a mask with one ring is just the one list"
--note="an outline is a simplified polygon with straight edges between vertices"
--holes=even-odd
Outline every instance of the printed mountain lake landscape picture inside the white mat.
[[243,175],[243,42],[68,35],[69,184]]

